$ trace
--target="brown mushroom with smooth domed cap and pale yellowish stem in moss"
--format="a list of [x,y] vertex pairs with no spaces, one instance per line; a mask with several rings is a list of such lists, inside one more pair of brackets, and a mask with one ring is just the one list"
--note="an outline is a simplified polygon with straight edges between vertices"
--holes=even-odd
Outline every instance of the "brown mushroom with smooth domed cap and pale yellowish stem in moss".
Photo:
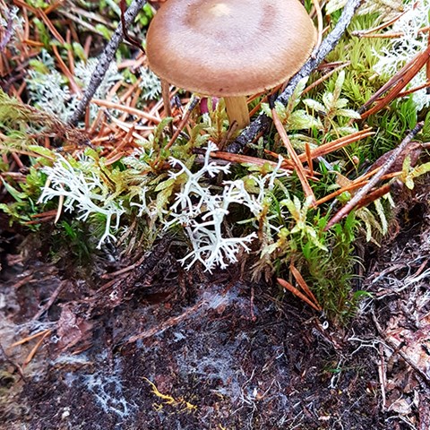
[[168,0],[150,22],[152,71],[185,90],[225,99],[230,124],[249,124],[245,96],[286,82],[316,30],[298,0]]

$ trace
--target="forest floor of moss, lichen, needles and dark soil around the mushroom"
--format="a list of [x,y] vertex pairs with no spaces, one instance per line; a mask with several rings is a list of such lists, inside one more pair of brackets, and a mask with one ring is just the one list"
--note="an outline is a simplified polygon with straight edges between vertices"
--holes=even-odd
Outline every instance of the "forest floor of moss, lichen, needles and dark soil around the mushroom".
[[[250,97],[242,132],[219,99],[171,86],[163,101],[126,43],[75,127],[118,2],[12,3],[0,0],[0,430],[429,430],[430,113],[411,95],[430,79],[427,0],[366,2],[354,18],[357,0],[323,16],[306,1],[323,40],[311,77]],[[417,44],[398,64],[405,11]],[[129,20],[133,38],[154,13]],[[383,53],[394,72],[376,72]],[[225,150],[240,139],[244,153]]]

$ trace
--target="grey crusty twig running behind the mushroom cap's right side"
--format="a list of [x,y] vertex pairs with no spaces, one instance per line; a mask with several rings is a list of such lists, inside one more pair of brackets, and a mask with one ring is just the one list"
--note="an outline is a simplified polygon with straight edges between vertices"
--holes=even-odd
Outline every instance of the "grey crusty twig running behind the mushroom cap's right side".
[[[290,79],[285,90],[282,91],[276,101],[287,105],[288,99],[297,87],[297,83],[305,76],[309,76],[314,69],[320,64],[323,59],[336,47],[340,38],[342,37],[345,30],[351,22],[354,13],[356,13],[357,7],[361,4],[362,0],[349,0],[345,5],[342,14],[340,15],[339,22],[336,24],[331,33],[323,40],[318,50],[314,52],[311,58],[305,63],[305,65]],[[228,152],[238,153],[244,150],[248,142],[252,142],[254,137],[265,131],[269,125],[271,125],[271,118],[260,114],[257,118],[248,125],[244,131],[236,138],[236,141],[228,145]]]

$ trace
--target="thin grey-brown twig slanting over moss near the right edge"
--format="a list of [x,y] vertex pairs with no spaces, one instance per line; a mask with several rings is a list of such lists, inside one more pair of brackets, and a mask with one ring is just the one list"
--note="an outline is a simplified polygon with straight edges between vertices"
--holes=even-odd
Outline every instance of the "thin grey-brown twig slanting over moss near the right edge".
[[366,194],[376,185],[379,180],[390,170],[394,161],[398,159],[400,154],[409,145],[410,141],[419,133],[423,128],[424,122],[418,123],[413,130],[411,130],[408,135],[400,142],[400,145],[392,150],[390,157],[385,160],[383,167],[378,170],[374,177],[363,187],[361,190],[354,195],[354,197],[338,212],[333,218],[329,220],[324,230],[330,229],[336,222],[340,219],[346,217],[350,211],[352,211],[357,204],[366,196]]

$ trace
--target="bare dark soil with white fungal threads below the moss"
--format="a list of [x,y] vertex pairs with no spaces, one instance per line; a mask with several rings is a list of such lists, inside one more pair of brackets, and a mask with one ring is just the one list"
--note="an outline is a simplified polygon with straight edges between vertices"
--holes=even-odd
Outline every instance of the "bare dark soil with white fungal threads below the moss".
[[0,428],[428,430],[425,195],[366,251],[345,327],[245,273],[184,273],[168,240],[88,281],[4,234]]

